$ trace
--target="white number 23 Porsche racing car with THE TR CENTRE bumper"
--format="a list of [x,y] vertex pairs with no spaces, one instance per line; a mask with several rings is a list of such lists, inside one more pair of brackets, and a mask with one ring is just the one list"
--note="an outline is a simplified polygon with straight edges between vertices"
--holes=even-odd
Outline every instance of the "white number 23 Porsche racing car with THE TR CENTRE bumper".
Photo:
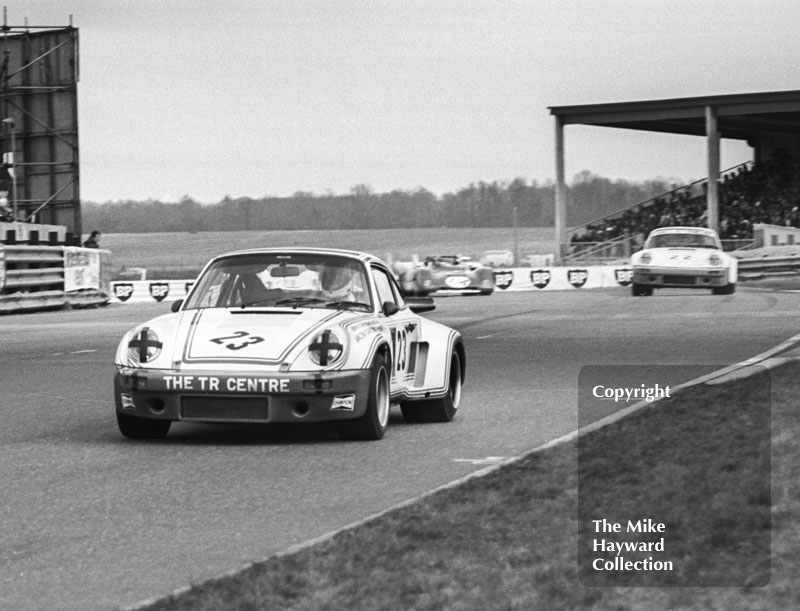
[[172,422],[333,422],[380,439],[390,404],[447,422],[461,398],[461,335],[419,316],[391,271],[364,253],[260,249],[212,259],[172,313],[129,331],[115,357],[120,432],[160,438]]

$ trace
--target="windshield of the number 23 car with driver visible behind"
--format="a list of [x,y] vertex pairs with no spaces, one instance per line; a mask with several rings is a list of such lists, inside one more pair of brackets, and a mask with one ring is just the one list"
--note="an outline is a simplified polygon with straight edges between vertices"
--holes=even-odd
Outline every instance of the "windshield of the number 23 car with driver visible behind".
[[322,254],[225,257],[198,279],[185,308],[372,307],[364,266]]

